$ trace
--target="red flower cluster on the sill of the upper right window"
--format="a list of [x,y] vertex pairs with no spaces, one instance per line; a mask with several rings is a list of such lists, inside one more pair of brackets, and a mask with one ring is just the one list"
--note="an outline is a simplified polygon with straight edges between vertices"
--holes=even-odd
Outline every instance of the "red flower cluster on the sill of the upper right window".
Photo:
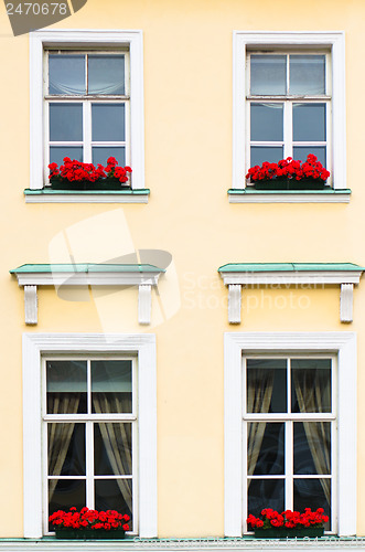
[[276,178],[289,178],[302,180],[304,178],[313,178],[315,180],[325,181],[330,177],[330,172],[318,161],[316,157],[310,153],[305,162],[294,161],[291,157],[281,159],[278,163],[269,163],[264,161],[262,166],[256,164],[248,169],[246,179],[251,179],[251,182],[258,180],[272,180]]

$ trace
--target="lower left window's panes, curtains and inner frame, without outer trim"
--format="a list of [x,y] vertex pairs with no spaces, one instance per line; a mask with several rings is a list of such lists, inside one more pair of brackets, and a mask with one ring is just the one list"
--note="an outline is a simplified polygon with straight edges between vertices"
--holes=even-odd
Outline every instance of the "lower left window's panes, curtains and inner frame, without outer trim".
[[71,506],[115,509],[138,532],[133,358],[47,358],[44,367],[44,533]]

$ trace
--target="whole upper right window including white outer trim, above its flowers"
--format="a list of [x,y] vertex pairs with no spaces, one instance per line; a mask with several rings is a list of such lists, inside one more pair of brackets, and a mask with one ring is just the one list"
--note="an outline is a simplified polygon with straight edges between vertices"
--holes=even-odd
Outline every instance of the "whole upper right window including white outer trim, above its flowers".
[[343,32],[234,33],[233,189],[249,167],[314,153],[346,189]]

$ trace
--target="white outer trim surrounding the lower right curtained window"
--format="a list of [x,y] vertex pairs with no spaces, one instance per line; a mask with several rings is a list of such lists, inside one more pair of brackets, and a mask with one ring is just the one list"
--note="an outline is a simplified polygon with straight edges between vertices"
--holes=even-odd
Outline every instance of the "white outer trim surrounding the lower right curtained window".
[[224,352],[225,537],[240,537],[243,520],[243,351],[337,354],[339,535],[356,533],[356,333],[227,332]]

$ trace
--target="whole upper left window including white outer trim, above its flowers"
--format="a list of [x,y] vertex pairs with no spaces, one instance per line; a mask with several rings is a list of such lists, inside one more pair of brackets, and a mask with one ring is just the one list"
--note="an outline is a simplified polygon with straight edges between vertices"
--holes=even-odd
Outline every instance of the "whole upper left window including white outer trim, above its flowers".
[[132,167],[133,191],[144,189],[142,60],[141,31],[30,33],[31,190],[65,156],[116,157]]

